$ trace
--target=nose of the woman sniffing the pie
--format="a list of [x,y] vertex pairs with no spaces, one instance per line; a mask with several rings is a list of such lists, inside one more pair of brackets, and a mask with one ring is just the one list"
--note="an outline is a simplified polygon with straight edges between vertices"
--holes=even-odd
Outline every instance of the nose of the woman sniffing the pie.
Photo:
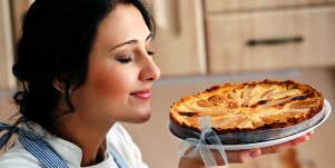
[[139,78],[141,81],[156,81],[160,77],[160,70],[150,56],[147,56],[146,58]]

